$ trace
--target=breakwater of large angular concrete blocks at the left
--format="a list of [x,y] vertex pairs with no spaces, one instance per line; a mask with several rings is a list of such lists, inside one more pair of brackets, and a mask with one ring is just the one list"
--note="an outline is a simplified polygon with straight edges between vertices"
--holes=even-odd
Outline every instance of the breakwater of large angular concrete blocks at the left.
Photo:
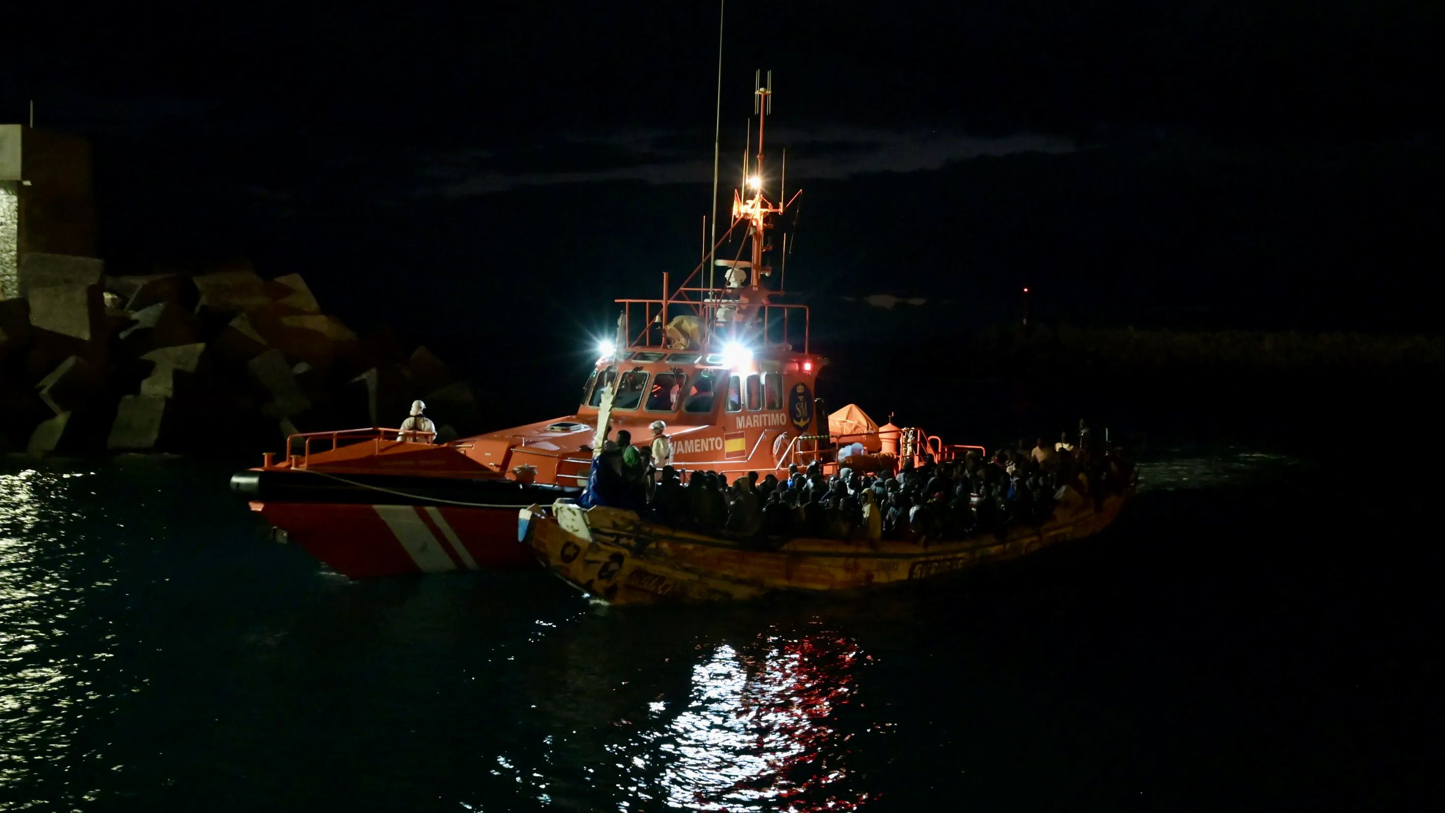
[[442,439],[481,429],[478,391],[390,331],[358,336],[299,274],[247,264],[107,276],[30,253],[0,300],[0,451],[280,449],[298,432],[396,426],[428,401]]

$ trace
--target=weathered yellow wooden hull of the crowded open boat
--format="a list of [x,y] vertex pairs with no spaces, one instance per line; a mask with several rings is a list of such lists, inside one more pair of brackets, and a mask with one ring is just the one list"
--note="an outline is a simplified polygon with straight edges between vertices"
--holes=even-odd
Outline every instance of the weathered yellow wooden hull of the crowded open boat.
[[673,529],[634,511],[582,508],[566,500],[523,508],[517,533],[553,573],[607,604],[727,601],[877,588],[1016,559],[1104,530],[1131,497],[1129,488],[1095,508],[1069,488],[1042,526],[922,543],[789,539],[776,544]]

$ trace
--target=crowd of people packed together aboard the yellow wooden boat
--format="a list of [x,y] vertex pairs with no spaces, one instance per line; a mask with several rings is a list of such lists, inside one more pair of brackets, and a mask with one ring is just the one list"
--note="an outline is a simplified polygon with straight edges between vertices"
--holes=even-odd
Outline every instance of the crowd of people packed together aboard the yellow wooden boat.
[[627,432],[608,440],[582,503],[705,533],[926,542],[1040,526],[1071,488],[1098,505],[1133,482],[1124,451],[1095,443],[1084,422],[1078,435],[1065,432],[1053,443],[1039,438],[1033,449],[970,451],[944,462],[923,455],[920,465],[905,459],[879,474],[854,471],[844,458],[837,474],[825,475],[812,461],[789,465],[786,478],[747,472],[731,481],[670,465],[670,445],[656,425],[653,435],[640,446]]

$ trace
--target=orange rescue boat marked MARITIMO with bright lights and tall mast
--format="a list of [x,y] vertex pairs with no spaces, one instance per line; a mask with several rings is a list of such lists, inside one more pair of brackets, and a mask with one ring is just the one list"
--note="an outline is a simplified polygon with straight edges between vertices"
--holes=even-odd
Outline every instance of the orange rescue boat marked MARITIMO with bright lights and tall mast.
[[[776,199],[763,173],[770,74],[764,85],[759,72],[754,98],[756,165],[743,168],[730,227],[681,283],[663,271],[659,297],[614,300],[616,335],[598,342],[574,412],[439,445],[377,427],[295,435],[283,459],[266,455],[233,490],[286,539],[364,578],[536,566],[517,544],[517,511],[575,498],[608,439],[627,430],[646,445],[659,420],[683,481],[699,469],[786,475],[814,461],[837,472],[840,449],[861,452],[855,471],[983,452],[877,426],[853,406],[827,414],[816,378],[828,360],[811,345],[808,305],[788,302],[789,235],[775,230],[801,192],[788,196],[786,165]],[[736,253],[720,256],[736,238]]]

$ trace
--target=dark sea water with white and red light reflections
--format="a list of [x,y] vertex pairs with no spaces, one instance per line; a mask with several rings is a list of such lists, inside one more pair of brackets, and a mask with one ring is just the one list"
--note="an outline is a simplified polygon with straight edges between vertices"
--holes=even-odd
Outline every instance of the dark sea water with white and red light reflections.
[[1107,534],[857,602],[348,582],[233,466],[0,461],[3,810],[1439,809],[1435,492],[1156,455]]

